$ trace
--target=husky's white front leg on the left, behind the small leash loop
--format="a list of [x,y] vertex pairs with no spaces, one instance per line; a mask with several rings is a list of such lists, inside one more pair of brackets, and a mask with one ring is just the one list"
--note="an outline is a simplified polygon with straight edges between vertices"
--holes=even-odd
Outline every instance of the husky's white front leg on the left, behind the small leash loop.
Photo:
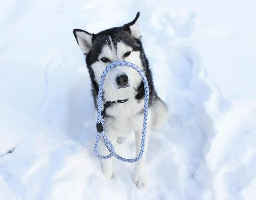
[[[108,136],[113,146],[115,147],[116,138],[117,138],[116,131],[114,130],[105,130],[105,131],[106,131],[105,132],[106,135]],[[110,154],[109,150],[105,146],[105,143],[103,142],[102,137],[100,138],[100,151],[101,151],[101,155],[103,156]],[[102,160],[102,172],[108,179],[111,179],[113,174],[113,157]]]

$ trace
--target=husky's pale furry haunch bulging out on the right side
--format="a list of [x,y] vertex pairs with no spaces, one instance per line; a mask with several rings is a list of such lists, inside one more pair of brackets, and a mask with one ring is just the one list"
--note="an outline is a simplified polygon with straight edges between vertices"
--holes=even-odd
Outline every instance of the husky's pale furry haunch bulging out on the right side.
[[168,117],[168,108],[166,104],[156,96],[154,106],[152,109],[152,121],[151,121],[151,129],[158,129],[165,125]]

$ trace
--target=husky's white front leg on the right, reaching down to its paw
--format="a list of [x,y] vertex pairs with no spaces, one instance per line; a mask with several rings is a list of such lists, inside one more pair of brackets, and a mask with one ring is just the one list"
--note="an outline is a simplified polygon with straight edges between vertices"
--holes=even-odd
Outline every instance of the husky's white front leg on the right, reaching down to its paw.
[[[135,162],[133,182],[137,185],[139,189],[145,187],[147,184],[145,165],[146,165],[146,154],[147,154],[149,133],[150,133],[150,123],[147,124],[145,147],[144,147],[143,155],[140,160]],[[139,155],[141,150],[141,139],[142,139],[142,129],[135,131],[136,156]]]

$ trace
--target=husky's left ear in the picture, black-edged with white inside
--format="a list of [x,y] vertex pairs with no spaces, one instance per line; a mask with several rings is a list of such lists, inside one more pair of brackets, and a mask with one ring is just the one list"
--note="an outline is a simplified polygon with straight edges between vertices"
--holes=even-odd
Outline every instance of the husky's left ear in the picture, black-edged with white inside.
[[78,46],[81,48],[83,54],[88,54],[92,48],[93,34],[81,29],[74,29],[73,34],[77,40]]

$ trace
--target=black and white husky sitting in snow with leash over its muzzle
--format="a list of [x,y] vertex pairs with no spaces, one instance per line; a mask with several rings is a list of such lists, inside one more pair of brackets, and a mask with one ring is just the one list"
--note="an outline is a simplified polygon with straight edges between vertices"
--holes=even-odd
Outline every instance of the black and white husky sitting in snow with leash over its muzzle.
[[[91,90],[97,116],[99,82],[103,70],[115,61],[129,61],[136,64],[145,73],[149,86],[148,121],[145,149],[140,160],[135,162],[133,182],[138,188],[145,187],[146,153],[151,129],[160,128],[166,123],[167,106],[158,97],[152,78],[152,72],[146,58],[138,27],[138,12],[135,19],[121,27],[103,30],[91,34],[81,29],[74,29],[73,34],[79,47],[86,56],[86,64],[91,78]],[[105,106],[104,106],[105,105]],[[140,153],[144,115],[144,84],[140,74],[128,66],[112,68],[106,75],[103,86],[105,133],[115,146],[120,134],[135,133],[136,156]],[[102,155],[110,152],[101,138],[99,142]],[[102,171],[106,177],[112,177],[112,161],[102,160]]]

